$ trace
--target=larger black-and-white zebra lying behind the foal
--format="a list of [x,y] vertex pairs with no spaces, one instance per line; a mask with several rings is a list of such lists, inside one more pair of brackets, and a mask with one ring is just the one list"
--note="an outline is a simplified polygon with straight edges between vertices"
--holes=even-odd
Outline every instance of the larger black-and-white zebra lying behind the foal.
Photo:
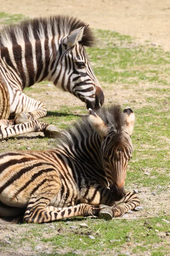
[[0,31],[1,140],[31,131],[58,132],[54,125],[36,121],[46,115],[45,104],[22,92],[40,81],[52,81],[87,108],[103,105],[102,88],[85,52],[94,41],[89,26],[62,15],[26,20]]

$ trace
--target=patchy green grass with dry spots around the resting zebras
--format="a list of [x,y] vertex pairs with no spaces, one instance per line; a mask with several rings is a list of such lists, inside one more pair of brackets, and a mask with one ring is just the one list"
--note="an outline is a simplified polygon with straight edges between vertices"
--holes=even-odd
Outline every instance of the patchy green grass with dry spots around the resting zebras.
[[[0,23],[23,18],[0,13]],[[11,244],[1,239],[2,253],[19,248],[23,248],[25,254],[40,256],[125,256],[127,253],[142,256],[147,252],[150,256],[164,256],[169,253],[166,233],[170,232],[170,222],[162,219],[168,221],[170,216],[158,215],[167,212],[170,199],[170,52],[153,47],[149,41],[140,45],[135,38],[117,32],[96,30],[95,33],[99,40],[96,47],[87,52],[101,81],[105,102],[119,102],[122,108],[129,105],[136,115],[132,137],[134,152],[128,166],[126,189],[146,189],[146,192],[139,194],[144,211],[132,216],[148,217],[148,211],[157,217],[110,222],[72,218],[43,225],[15,225],[3,230]],[[42,122],[64,129],[88,113],[85,105],[74,96],[53,86],[47,87],[47,83],[44,81],[24,90],[28,96],[47,105],[48,113]],[[50,147],[49,142],[42,133],[11,138],[1,143],[0,152],[28,147],[46,149]],[[151,194],[153,191],[156,195]],[[80,228],[82,222],[88,227]],[[78,229],[71,229],[71,226]],[[89,235],[95,239],[90,239]]]

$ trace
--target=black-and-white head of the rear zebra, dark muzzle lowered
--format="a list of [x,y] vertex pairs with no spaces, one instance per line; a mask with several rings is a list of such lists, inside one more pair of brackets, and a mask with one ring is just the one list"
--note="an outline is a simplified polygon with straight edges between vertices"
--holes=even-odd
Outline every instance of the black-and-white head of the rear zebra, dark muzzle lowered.
[[98,109],[104,103],[104,94],[85,52],[84,45],[91,45],[88,33],[91,30],[84,25],[62,38],[60,76],[54,84],[61,84],[63,90],[81,99],[87,108]]

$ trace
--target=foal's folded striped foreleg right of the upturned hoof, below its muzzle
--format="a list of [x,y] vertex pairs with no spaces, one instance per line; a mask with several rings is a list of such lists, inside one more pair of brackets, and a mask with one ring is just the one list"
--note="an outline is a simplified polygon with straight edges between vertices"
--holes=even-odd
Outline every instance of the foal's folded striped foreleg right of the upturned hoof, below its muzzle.
[[[122,204],[123,203],[123,204]],[[127,212],[133,210],[135,207],[140,205],[139,197],[135,193],[129,192],[125,195],[122,200],[118,202],[121,205],[115,205],[112,208],[113,217],[118,217]]]

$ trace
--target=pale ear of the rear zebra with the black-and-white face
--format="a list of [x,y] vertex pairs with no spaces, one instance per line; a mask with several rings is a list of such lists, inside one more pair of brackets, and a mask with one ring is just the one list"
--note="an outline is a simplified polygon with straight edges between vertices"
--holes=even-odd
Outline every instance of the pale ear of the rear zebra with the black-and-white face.
[[77,42],[82,40],[83,33],[84,33],[85,25],[72,31],[64,40],[64,43],[68,45],[68,47],[72,47]]

